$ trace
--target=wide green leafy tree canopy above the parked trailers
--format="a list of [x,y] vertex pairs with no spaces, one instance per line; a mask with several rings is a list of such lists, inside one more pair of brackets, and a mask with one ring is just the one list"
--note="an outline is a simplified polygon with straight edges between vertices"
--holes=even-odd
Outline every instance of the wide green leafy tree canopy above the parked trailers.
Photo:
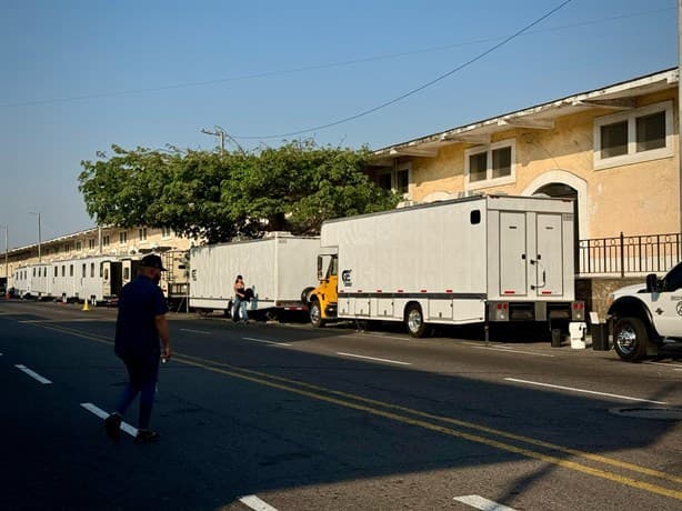
[[265,231],[317,234],[324,220],[393,208],[364,173],[369,151],[289,142],[254,153],[126,150],[82,161],[79,190],[98,224],[171,228],[209,243]]

